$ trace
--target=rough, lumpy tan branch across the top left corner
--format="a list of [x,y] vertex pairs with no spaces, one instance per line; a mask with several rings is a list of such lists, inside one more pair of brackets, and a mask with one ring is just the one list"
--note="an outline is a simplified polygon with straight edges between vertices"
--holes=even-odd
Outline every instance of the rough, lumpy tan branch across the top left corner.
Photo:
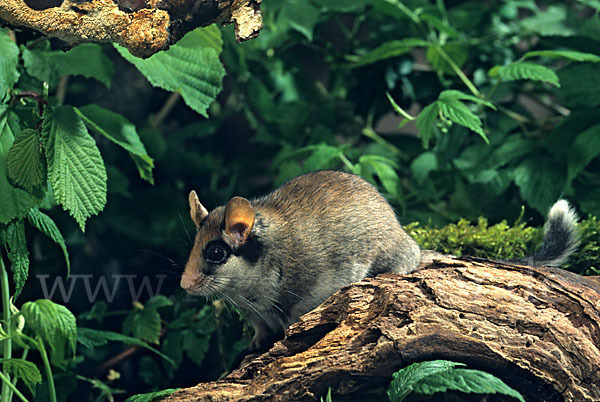
[[198,26],[234,23],[236,39],[262,28],[261,0],[1,0],[0,22],[69,44],[116,42],[139,57],[167,49]]

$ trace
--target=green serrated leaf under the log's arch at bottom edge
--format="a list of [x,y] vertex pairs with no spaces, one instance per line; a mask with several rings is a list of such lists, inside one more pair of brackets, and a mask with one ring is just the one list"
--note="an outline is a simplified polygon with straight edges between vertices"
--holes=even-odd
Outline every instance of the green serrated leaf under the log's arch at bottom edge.
[[496,376],[480,370],[452,369],[427,377],[414,385],[414,392],[433,395],[438,392],[460,391],[467,394],[502,394],[521,402],[523,396]]

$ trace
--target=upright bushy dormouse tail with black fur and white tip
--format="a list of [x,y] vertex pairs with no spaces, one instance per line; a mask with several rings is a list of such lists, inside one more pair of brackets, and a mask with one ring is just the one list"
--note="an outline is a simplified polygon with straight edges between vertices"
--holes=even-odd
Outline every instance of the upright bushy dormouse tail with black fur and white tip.
[[578,219],[577,213],[567,201],[557,201],[548,213],[548,221],[544,226],[544,241],[540,248],[532,256],[515,262],[534,267],[560,266],[579,244],[575,230]]

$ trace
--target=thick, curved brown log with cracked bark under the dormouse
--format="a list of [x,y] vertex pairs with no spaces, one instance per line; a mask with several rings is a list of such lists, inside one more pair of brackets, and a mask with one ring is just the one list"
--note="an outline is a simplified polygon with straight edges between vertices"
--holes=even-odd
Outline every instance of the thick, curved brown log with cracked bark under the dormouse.
[[347,286],[266,353],[169,401],[385,400],[394,371],[448,359],[526,400],[600,400],[600,282],[548,268],[440,257]]

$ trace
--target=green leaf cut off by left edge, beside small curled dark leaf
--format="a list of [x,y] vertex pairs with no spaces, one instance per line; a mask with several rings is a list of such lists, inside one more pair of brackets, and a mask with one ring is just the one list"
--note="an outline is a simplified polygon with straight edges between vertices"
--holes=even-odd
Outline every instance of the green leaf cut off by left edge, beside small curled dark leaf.
[[15,136],[20,132],[19,119],[8,105],[0,104],[0,223],[22,218],[35,204],[26,191],[13,187],[8,181],[6,160]]

